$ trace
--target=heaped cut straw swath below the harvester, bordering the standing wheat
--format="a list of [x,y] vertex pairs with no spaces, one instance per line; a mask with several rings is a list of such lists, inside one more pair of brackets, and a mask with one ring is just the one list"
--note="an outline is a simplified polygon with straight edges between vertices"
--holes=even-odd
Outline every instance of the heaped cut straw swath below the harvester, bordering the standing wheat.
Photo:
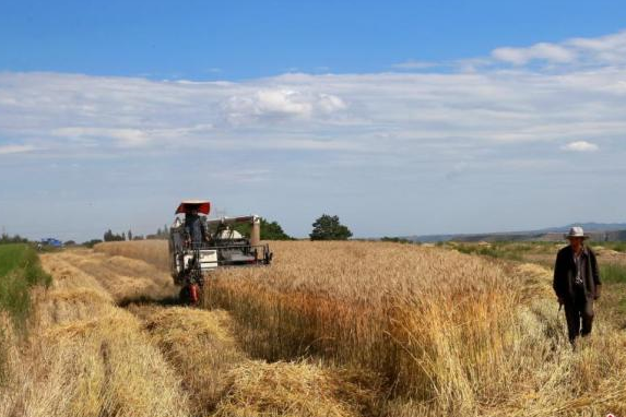
[[356,417],[371,408],[374,393],[319,365],[250,360],[223,311],[130,310],[181,376],[193,415]]

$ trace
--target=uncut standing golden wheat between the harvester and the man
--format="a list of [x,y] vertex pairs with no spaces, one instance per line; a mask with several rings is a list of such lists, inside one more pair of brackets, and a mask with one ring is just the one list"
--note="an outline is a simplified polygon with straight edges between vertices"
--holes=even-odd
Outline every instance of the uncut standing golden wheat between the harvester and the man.
[[[165,242],[140,246],[98,250],[129,250],[166,267]],[[220,271],[205,290],[208,307],[233,314],[253,357],[312,356],[324,367],[369,371],[386,381],[382,414],[394,417],[626,414],[624,332],[600,317],[571,352],[541,266],[391,243],[272,249],[271,267]],[[251,402],[244,382],[231,385],[243,390],[235,404]]]

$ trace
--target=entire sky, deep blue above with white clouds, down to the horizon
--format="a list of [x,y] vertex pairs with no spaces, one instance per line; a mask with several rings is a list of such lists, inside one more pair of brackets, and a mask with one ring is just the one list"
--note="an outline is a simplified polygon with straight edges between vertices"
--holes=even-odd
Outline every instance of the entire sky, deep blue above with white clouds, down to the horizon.
[[[97,5],[96,5],[97,4]],[[0,222],[209,198],[306,236],[623,222],[618,1],[0,1]]]

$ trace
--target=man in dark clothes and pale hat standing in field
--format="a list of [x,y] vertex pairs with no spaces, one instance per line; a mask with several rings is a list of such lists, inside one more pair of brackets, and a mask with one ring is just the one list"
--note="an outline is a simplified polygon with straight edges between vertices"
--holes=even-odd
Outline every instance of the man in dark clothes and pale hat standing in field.
[[565,307],[569,342],[575,346],[576,337],[591,333],[593,301],[602,286],[595,253],[584,245],[588,236],[582,227],[572,227],[566,238],[569,246],[556,255],[553,288]]

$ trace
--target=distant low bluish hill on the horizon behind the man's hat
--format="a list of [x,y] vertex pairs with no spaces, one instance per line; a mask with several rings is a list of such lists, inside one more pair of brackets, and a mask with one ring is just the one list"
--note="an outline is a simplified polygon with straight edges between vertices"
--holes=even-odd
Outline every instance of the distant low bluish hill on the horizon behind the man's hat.
[[439,241],[559,241],[572,226],[581,226],[597,241],[626,240],[626,223],[575,223],[566,226],[547,227],[538,230],[504,231],[486,234],[404,236],[404,239],[421,242]]

